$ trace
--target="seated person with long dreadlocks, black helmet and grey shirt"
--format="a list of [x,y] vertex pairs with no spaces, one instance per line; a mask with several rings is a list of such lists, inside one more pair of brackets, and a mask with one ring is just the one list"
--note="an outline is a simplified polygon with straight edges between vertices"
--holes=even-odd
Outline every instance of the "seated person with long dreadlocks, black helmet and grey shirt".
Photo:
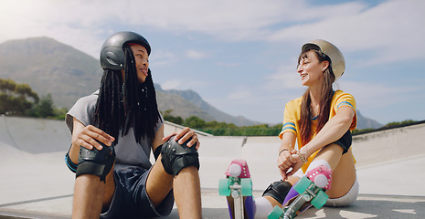
[[201,218],[200,143],[188,128],[164,137],[150,53],[139,34],[110,36],[101,47],[101,89],[67,114],[72,143],[66,162],[76,172],[73,218],[165,216],[174,199],[180,218]]

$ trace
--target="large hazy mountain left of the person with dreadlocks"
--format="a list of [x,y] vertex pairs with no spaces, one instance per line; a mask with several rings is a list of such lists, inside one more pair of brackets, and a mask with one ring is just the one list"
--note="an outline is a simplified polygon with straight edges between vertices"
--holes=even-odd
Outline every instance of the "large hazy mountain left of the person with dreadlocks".
[[57,107],[70,108],[100,85],[99,61],[48,37],[0,44],[0,78],[27,83],[40,98],[50,93]]

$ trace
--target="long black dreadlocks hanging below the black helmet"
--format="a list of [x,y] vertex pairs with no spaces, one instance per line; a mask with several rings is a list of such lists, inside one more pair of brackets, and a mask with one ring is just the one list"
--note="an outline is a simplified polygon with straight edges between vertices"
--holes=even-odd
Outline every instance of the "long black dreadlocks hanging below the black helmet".
[[126,135],[131,127],[139,143],[147,136],[154,139],[154,129],[161,116],[156,103],[151,70],[141,84],[137,78],[132,49],[124,45],[124,81],[122,71],[105,69],[96,103],[94,124],[118,142],[120,130]]

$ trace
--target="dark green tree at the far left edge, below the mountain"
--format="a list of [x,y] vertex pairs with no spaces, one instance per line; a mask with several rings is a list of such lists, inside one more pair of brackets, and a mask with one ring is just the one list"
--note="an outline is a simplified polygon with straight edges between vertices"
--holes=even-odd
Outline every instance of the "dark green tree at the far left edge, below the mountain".
[[0,114],[24,115],[38,103],[38,95],[27,84],[0,78]]

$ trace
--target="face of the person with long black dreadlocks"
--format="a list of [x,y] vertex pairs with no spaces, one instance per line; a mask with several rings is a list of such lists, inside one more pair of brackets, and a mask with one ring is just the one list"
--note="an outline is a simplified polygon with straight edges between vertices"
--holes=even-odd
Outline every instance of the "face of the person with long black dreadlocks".
[[143,83],[148,75],[149,55],[147,54],[146,48],[142,45],[133,44],[130,48],[133,50],[137,78],[139,79],[139,83]]

